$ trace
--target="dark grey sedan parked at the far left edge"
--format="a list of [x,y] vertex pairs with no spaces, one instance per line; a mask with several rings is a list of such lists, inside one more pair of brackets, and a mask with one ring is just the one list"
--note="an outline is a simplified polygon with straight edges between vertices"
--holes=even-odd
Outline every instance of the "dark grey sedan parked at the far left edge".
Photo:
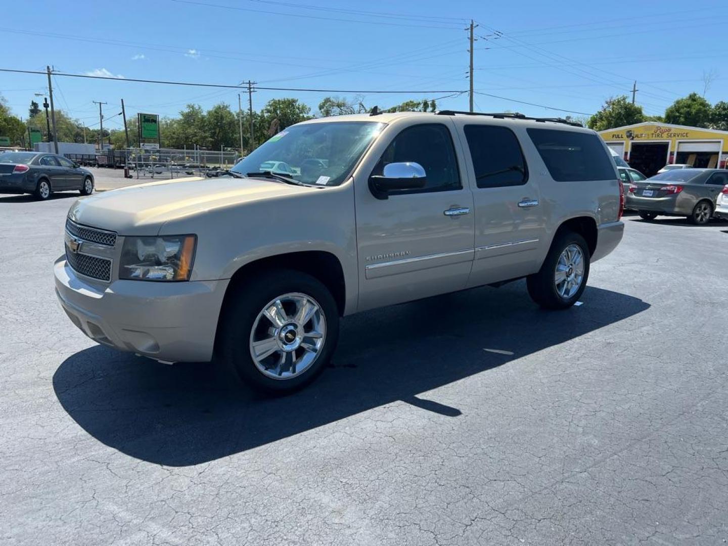
[[93,188],[90,171],[66,157],[36,151],[0,154],[0,194],[33,194],[44,200],[54,191],[77,190],[90,195]]

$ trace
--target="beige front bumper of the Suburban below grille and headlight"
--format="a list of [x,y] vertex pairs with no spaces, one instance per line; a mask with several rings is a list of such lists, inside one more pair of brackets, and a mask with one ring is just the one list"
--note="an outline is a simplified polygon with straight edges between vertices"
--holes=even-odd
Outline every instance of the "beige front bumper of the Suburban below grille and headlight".
[[98,343],[165,362],[209,362],[229,280],[98,282],[59,258],[53,267],[63,310]]

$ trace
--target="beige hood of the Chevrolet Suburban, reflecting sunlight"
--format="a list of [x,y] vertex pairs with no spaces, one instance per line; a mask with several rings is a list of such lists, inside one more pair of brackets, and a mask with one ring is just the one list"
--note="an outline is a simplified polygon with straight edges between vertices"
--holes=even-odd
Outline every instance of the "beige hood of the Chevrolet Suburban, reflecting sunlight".
[[309,191],[317,190],[257,178],[180,178],[83,197],[68,218],[121,235],[152,235],[167,221]]

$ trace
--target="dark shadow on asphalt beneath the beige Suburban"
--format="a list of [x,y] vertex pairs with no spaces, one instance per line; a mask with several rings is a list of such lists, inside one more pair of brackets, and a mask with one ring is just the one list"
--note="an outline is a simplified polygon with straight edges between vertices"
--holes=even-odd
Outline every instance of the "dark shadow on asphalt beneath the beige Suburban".
[[649,308],[587,288],[585,304],[546,312],[523,281],[354,315],[331,368],[306,389],[264,397],[210,364],[163,365],[91,347],[53,376],[58,400],[100,442],[144,461],[187,466],[218,459],[403,400],[456,419],[419,394],[577,339]]

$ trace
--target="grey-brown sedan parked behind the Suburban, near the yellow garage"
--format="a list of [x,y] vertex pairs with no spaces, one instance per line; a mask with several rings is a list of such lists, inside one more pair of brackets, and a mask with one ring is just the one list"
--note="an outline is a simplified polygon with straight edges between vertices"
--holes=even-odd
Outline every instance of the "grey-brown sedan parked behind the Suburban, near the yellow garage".
[[697,225],[708,223],[716,210],[716,199],[728,183],[728,170],[673,169],[634,182],[627,192],[626,207],[640,218],[658,215],[687,216]]

